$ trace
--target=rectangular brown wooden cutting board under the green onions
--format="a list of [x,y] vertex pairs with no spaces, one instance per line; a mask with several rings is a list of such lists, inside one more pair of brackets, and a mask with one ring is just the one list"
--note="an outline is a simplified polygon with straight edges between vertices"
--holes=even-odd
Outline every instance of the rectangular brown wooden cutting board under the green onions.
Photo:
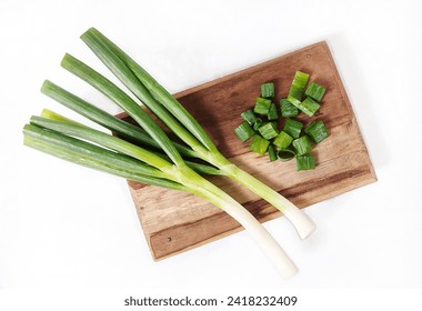
[[[265,81],[275,83],[277,99],[285,97],[294,72],[328,90],[321,109],[308,124],[321,119],[331,136],[316,146],[315,170],[297,171],[295,161],[269,162],[242,143],[233,129],[240,113],[253,107]],[[175,97],[232,162],[264,181],[300,208],[376,181],[352,107],[325,42],[319,42],[264,63],[177,93]],[[302,113],[303,114],[303,113]],[[223,177],[209,178],[250,210],[261,222],[281,213],[249,190]],[[207,201],[191,194],[129,181],[130,192],[154,260],[197,248],[241,230]],[[318,224],[316,224],[318,227]]]

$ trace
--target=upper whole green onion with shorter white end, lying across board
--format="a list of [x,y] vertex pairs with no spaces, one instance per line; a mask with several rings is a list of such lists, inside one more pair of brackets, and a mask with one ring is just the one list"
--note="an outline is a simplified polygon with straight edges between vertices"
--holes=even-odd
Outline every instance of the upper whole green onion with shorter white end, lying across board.
[[[315,229],[312,220],[292,202],[221,154],[185,108],[117,44],[94,28],[84,32],[81,39],[109,70],[190,148],[190,156],[212,164],[221,174],[237,180],[279,209],[293,223],[302,239]],[[137,120],[137,113],[131,111],[132,107],[138,104],[112,82],[69,54],[64,57],[62,67],[105,94],[143,127]],[[119,132],[117,129],[113,130]]]

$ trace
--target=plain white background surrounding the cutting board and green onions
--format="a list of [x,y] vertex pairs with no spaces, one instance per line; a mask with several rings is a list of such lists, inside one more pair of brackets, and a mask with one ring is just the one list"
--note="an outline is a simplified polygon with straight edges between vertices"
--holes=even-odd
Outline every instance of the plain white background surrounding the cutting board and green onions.
[[[0,288],[422,287],[421,1],[0,2]],[[115,40],[171,92],[326,40],[379,181],[305,209],[300,241],[265,224],[300,268],[282,280],[244,232],[154,263],[125,181],[22,146],[50,108],[50,79],[119,112],[60,69],[64,52],[107,72],[79,36]]]

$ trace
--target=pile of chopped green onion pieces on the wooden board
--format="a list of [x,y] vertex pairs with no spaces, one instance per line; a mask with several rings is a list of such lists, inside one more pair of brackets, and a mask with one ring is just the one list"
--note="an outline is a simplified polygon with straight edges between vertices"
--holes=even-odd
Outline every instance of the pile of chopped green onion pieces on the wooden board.
[[[325,94],[325,88],[315,82],[307,88],[308,80],[308,73],[297,71],[288,97],[280,100],[280,108],[273,102],[274,83],[261,84],[261,96],[255,99],[255,106],[241,113],[244,121],[234,129],[242,142],[252,139],[250,149],[260,156],[268,153],[270,161],[295,158],[299,171],[315,168],[311,141],[318,144],[330,136],[322,120],[312,121],[304,130],[304,124],[294,120],[300,111],[309,117],[314,116]],[[281,130],[279,123],[283,123]]]

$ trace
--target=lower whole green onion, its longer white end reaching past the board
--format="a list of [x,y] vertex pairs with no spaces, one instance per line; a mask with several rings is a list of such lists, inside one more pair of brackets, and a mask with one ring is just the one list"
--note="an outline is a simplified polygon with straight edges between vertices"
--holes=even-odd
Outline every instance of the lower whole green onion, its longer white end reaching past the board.
[[[160,132],[158,126],[154,130]],[[297,267],[263,225],[229,194],[187,165],[177,151],[172,154],[172,163],[154,152],[51,111],[44,111],[42,117],[32,117],[24,126],[23,134],[24,144],[63,160],[208,200],[252,235],[281,275],[295,274]],[[164,132],[160,134],[164,141]],[[172,149],[171,143],[165,147]]]

